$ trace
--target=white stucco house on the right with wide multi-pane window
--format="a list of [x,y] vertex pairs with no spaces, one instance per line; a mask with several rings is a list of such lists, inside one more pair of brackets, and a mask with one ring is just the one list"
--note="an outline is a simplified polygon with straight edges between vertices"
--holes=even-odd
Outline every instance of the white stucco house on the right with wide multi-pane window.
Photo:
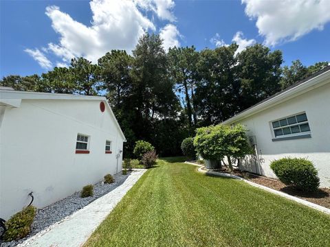
[[223,122],[237,123],[248,129],[255,151],[240,169],[275,178],[275,159],[307,158],[320,186],[330,187],[330,66]]

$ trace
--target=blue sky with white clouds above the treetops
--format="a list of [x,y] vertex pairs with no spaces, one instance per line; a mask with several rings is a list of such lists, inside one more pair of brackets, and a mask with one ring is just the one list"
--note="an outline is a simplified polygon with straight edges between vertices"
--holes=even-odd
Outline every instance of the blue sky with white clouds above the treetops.
[[94,62],[131,49],[144,32],[166,49],[254,43],[281,49],[285,64],[330,60],[330,1],[0,1],[0,77],[44,73],[73,56]]

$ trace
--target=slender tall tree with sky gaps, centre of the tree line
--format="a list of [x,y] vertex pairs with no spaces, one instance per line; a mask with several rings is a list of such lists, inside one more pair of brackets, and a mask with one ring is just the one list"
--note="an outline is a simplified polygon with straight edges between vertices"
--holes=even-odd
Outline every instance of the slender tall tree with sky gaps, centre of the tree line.
[[184,104],[186,105],[186,115],[188,126],[192,131],[193,124],[197,124],[195,107],[192,106],[192,99],[195,91],[195,78],[197,73],[197,62],[199,54],[195,47],[174,47],[168,50],[168,60],[171,75],[177,84],[177,91],[184,91]]

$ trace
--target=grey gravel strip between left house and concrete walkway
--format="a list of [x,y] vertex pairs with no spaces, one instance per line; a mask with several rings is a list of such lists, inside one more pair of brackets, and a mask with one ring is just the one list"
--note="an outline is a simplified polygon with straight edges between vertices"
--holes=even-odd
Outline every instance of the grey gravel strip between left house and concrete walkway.
[[28,236],[23,239],[19,239],[18,241],[12,242],[0,242],[1,247],[12,247],[17,246],[18,244],[23,243],[29,237],[32,237],[36,233],[44,230],[48,226],[63,220],[63,218],[68,215],[72,215],[72,213],[82,209],[87,204],[93,202],[94,200],[104,196],[106,193],[109,193],[113,189],[124,183],[124,180],[129,176],[130,172],[127,175],[122,175],[121,173],[115,174],[113,176],[115,182],[111,184],[103,183],[103,181],[96,183],[94,185],[94,196],[90,196],[87,198],[80,198],[80,191],[74,193],[67,198],[59,200],[50,206],[44,207],[43,209],[38,209],[36,212],[36,217],[34,218],[34,222],[31,226],[31,232]]

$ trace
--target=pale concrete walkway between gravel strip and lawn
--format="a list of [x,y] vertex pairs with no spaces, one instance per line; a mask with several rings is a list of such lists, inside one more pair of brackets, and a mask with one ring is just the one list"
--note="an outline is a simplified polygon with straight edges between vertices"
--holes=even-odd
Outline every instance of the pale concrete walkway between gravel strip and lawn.
[[122,185],[30,237],[19,246],[82,246],[144,172],[146,169],[134,169]]

